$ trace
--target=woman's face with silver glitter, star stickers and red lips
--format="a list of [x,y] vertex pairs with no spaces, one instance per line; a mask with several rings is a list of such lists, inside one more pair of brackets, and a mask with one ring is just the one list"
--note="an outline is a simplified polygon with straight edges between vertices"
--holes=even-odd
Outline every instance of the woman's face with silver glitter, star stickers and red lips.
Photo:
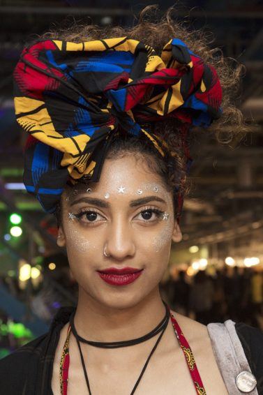
[[[172,192],[142,158],[106,159],[100,181],[65,191],[61,206],[58,244],[66,246],[80,292],[112,308],[135,306],[158,292],[172,240],[180,241],[181,231]],[[127,267],[140,275],[105,274]]]

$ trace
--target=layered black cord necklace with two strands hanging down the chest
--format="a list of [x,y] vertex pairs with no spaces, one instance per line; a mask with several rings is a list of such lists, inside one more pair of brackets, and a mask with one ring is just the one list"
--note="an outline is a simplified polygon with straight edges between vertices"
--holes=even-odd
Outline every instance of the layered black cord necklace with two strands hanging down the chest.
[[148,334],[146,334],[146,335],[144,335],[142,337],[139,337],[139,338],[134,338],[132,340],[113,341],[113,342],[110,342],[110,343],[102,343],[100,341],[89,341],[89,340],[79,336],[77,334],[77,331],[76,331],[76,328],[75,328],[75,325],[74,325],[74,314],[75,313],[70,315],[70,327],[71,327],[71,331],[72,331],[73,335],[75,336],[75,338],[77,340],[77,346],[78,346],[78,348],[80,350],[80,357],[81,357],[81,362],[82,362],[82,368],[83,368],[84,376],[85,376],[85,379],[86,379],[86,382],[87,382],[89,395],[91,395],[91,387],[89,385],[89,378],[88,378],[88,374],[87,374],[87,368],[86,368],[85,363],[84,363],[84,357],[82,355],[82,349],[80,347],[80,342],[86,343],[86,344],[89,344],[89,345],[93,345],[94,347],[99,347],[99,348],[121,348],[121,347],[128,347],[130,345],[135,345],[135,344],[142,343],[142,342],[144,342],[146,340],[149,340],[153,336],[156,336],[157,334],[160,333],[160,335],[157,338],[157,341],[156,341],[155,345],[153,345],[153,348],[152,348],[152,350],[151,350],[151,352],[149,354],[149,357],[146,359],[146,362],[145,362],[145,364],[144,364],[144,366],[142,368],[142,371],[141,371],[141,373],[139,375],[139,378],[135,382],[135,386],[133,387],[132,392],[130,392],[130,395],[133,395],[135,393],[135,390],[137,389],[139,383],[140,383],[140,380],[142,379],[142,375],[144,374],[147,365],[149,364],[149,361],[151,359],[151,356],[153,355],[153,352],[156,350],[158,344],[160,343],[160,339],[162,338],[162,336],[163,336],[163,334],[165,332],[165,329],[167,328],[168,322],[170,320],[170,310],[169,310],[167,304],[164,303],[164,305],[165,305],[165,316],[164,316],[163,320],[161,320],[159,322],[159,324],[157,325],[157,327],[155,327]]

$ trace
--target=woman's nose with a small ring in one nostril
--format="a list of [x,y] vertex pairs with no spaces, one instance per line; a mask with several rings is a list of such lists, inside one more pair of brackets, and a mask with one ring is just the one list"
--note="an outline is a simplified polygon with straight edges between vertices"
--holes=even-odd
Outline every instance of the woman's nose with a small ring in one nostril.
[[122,261],[134,256],[133,230],[125,218],[116,218],[112,221],[106,244],[107,254],[115,260]]

